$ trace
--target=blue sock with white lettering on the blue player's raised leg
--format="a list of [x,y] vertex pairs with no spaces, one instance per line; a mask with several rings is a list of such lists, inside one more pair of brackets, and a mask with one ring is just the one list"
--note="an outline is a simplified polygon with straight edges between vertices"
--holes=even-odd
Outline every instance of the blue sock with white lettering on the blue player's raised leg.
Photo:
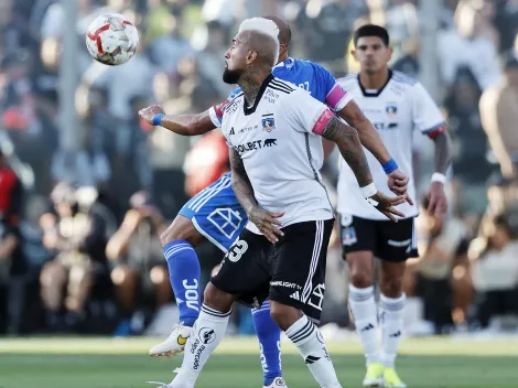
[[199,315],[198,257],[185,240],[168,242],[163,252],[168,261],[169,280],[180,310],[180,321],[185,326],[193,326]]

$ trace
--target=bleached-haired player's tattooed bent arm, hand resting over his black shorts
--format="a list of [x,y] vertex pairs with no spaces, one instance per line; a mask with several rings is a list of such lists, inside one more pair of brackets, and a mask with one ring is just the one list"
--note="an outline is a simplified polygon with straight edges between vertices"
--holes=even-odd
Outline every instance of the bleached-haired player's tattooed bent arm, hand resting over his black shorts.
[[253,196],[253,187],[248,179],[245,164],[241,157],[234,150],[230,150],[230,168],[233,171],[233,188],[236,198],[247,213],[248,219],[257,226],[257,228],[271,242],[279,241],[278,236],[283,236],[279,229],[281,222],[277,218],[282,217],[284,213],[267,212],[259,206]]

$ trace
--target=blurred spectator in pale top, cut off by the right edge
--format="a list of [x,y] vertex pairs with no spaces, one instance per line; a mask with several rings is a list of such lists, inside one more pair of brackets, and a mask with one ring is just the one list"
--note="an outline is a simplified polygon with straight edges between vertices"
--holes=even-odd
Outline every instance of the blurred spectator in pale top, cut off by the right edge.
[[516,175],[518,161],[518,58],[510,56],[504,79],[488,88],[481,98],[484,130],[504,176]]

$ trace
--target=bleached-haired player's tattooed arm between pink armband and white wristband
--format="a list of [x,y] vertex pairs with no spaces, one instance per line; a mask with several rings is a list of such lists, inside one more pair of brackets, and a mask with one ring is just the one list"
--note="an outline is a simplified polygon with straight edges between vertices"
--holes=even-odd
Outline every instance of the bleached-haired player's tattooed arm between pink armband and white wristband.
[[360,187],[373,183],[367,158],[356,129],[333,117],[322,131],[322,136],[336,143],[339,153],[353,170]]

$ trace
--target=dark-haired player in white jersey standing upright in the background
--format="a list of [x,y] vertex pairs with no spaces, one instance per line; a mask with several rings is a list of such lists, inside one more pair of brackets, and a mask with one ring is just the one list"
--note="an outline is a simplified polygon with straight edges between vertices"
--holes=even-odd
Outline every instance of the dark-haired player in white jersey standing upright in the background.
[[[353,55],[360,73],[338,79],[378,129],[390,154],[401,170],[412,176],[412,137],[424,133],[435,143],[435,173],[428,192],[429,212],[442,216],[446,212],[445,172],[451,160],[451,140],[444,118],[420,83],[388,67],[392,54],[387,30],[365,25],[354,35]],[[390,193],[384,170],[374,163],[367,151],[376,186]],[[401,291],[406,260],[417,256],[413,218],[418,207],[402,204],[406,218],[397,224],[386,222],[378,212],[365,204],[355,187],[355,175],[343,163],[338,180],[338,213],[342,223],[344,256],[349,268],[349,310],[367,358],[364,387],[404,388],[395,370],[396,355],[403,328],[404,294]],[[409,195],[416,186],[409,184]],[[380,259],[379,306],[373,291],[374,258]],[[382,347],[378,348],[377,327],[382,328]]]

